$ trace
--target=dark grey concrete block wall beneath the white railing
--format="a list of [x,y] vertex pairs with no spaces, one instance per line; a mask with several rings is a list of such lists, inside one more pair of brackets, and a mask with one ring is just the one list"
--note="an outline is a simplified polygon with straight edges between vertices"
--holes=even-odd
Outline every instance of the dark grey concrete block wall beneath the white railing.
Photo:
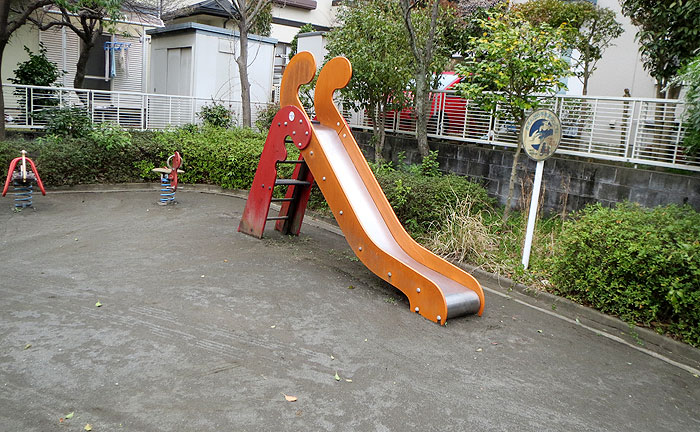
[[[371,133],[353,133],[368,160],[374,160],[374,148],[369,145]],[[483,184],[491,196],[505,204],[515,154],[512,149],[451,141],[431,141],[430,148],[438,151],[441,170]],[[401,152],[405,153],[408,162],[420,163],[414,138],[387,136],[384,158],[398,162]],[[529,202],[535,164],[524,152],[521,153],[515,207],[526,206]],[[700,173],[675,174],[555,156],[545,162],[543,185],[542,208],[547,213],[568,214],[590,203],[612,206],[621,201],[632,201],[645,207],[690,204],[700,211]]]

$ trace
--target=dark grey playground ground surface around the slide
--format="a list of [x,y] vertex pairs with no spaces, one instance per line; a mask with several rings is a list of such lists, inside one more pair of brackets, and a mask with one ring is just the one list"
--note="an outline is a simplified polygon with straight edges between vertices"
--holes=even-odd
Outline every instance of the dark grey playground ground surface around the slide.
[[0,200],[0,430],[700,430],[698,350],[480,274],[440,327],[326,222],[119,188]]

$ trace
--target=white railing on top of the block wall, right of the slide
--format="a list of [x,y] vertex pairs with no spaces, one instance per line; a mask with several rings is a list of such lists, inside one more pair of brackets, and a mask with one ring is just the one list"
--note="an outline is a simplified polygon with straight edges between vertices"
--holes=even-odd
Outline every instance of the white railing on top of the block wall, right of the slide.
[[[684,104],[679,100],[558,95],[545,101],[562,122],[558,154],[700,171],[700,158],[682,145]],[[498,109],[498,108],[497,108]],[[350,126],[372,129],[365,111],[343,110]],[[384,118],[389,132],[415,134],[408,110]],[[518,127],[454,92],[433,94],[428,136],[515,147]]]

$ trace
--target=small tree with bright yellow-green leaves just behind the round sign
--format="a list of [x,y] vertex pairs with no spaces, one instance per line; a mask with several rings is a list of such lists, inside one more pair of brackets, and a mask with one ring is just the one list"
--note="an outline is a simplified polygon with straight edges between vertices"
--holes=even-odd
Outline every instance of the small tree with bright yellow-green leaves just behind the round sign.
[[[474,58],[457,66],[463,77],[458,91],[482,109],[521,126],[526,111],[540,107],[543,96],[554,96],[565,88],[560,81],[570,74],[569,65],[560,55],[565,29],[546,23],[535,26],[516,15],[493,14],[481,21],[481,28],[483,33],[470,40]],[[521,148],[518,140],[504,221],[510,214]]]

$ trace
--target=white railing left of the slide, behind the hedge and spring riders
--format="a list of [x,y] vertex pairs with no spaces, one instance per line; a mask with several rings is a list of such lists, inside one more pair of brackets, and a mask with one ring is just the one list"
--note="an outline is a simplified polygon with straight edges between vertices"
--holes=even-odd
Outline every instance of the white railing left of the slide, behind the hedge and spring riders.
[[[205,105],[218,103],[233,113],[241,124],[241,102],[192,96],[163,95],[123,91],[86,90],[65,87],[40,87],[3,84],[5,126],[14,129],[41,129],[52,110],[73,107],[82,110],[93,122],[110,122],[132,129],[166,129],[188,123],[200,123],[199,112]],[[267,104],[252,104],[253,121]]]

